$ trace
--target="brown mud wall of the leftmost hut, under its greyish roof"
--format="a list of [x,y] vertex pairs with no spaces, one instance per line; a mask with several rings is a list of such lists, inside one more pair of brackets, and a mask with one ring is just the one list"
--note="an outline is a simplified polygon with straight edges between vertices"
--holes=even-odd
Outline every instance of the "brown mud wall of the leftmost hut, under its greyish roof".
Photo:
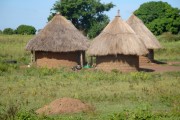
[[35,63],[39,67],[73,67],[80,63],[80,52],[35,52]]

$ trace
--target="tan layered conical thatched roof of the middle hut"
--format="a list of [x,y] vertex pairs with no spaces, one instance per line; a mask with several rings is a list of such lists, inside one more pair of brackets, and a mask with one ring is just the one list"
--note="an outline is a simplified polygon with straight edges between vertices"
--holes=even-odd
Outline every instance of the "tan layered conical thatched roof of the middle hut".
[[88,49],[88,54],[91,56],[146,53],[148,51],[143,42],[119,15],[93,40]]

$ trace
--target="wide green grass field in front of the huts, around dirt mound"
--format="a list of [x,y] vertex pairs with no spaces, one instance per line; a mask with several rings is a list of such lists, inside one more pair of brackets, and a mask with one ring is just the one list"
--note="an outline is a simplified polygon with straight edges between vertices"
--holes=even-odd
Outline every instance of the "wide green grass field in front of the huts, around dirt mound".
[[[71,97],[92,104],[96,110],[51,118],[110,119],[123,111],[140,116],[138,112],[146,110],[152,116],[165,114],[162,118],[179,118],[179,88],[180,72],[122,74],[10,66],[0,76],[0,113],[4,115],[16,108],[14,114],[19,111],[29,114],[57,98]],[[9,116],[12,115],[10,112]]]

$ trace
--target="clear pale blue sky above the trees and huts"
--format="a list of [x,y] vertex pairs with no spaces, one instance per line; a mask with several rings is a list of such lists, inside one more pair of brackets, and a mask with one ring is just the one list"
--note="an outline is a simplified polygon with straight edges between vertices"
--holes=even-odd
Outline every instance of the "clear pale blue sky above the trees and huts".
[[[37,30],[44,28],[50,9],[57,0],[0,0],[0,30],[4,28],[16,29],[19,25],[31,25]],[[160,0],[101,0],[102,3],[112,2],[116,5],[110,11],[105,12],[112,20],[120,10],[122,19],[128,17],[137,10],[141,4],[149,1]],[[180,0],[161,0],[168,2],[172,7],[180,8]]]

